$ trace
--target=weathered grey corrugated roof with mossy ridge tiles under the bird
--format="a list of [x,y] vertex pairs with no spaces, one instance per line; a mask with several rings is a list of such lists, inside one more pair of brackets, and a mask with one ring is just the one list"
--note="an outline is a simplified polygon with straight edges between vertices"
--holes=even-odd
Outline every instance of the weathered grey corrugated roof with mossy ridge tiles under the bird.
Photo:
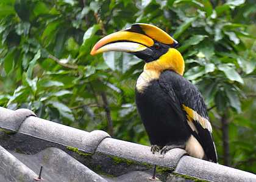
[[0,181],[256,181],[256,175],[199,160],[183,149],[165,155],[150,147],[0,107]]

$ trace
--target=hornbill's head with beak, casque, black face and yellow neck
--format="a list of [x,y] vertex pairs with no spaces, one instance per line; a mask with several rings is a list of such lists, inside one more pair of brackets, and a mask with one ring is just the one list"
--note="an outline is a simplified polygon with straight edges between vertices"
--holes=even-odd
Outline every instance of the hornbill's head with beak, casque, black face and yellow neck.
[[102,38],[91,50],[91,55],[119,51],[132,53],[146,64],[144,69],[162,72],[171,69],[183,75],[184,61],[175,49],[178,42],[166,32],[150,24],[133,24],[127,30]]

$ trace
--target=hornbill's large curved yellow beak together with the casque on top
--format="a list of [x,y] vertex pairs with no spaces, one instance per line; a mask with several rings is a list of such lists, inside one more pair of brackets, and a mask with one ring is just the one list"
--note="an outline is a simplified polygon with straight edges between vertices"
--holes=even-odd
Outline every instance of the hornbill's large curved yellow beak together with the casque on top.
[[112,33],[99,40],[91,50],[91,55],[108,51],[141,52],[154,45],[154,40],[164,44],[177,44],[171,36],[154,25],[133,24],[127,30]]

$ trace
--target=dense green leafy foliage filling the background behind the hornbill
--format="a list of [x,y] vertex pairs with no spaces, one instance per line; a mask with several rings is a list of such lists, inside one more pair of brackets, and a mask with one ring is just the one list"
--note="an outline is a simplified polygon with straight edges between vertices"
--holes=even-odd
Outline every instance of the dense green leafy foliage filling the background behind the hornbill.
[[0,106],[149,144],[134,93],[143,62],[90,50],[135,22],[154,24],[180,42],[185,77],[209,108],[220,163],[227,114],[232,166],[256,172],[255,12],[252,0],[0,1]]

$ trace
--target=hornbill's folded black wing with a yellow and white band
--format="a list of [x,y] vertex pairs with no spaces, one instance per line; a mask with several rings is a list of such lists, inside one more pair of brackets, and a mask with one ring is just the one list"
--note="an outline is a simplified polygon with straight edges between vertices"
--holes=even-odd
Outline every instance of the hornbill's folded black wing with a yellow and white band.
[[165,70],[159,78],[162,89],[172,99],[172,107],[180,118],[191,128],[208,160],[218,162],[204,99],[196,87],[183,76],[172,70]]

